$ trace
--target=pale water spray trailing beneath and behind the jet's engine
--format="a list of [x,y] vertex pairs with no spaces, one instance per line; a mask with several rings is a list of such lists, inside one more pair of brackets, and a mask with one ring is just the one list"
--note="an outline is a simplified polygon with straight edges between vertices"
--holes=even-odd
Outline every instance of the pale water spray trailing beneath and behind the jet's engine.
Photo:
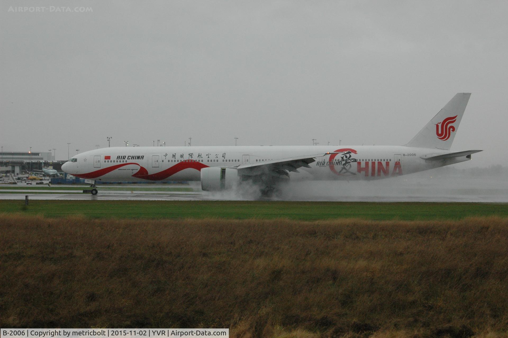
[[508,202],[508,168],[500,165],[462,169],[441,167],[377,180],[289,181],[271,197],[249,184],[205,199],[371,202]]

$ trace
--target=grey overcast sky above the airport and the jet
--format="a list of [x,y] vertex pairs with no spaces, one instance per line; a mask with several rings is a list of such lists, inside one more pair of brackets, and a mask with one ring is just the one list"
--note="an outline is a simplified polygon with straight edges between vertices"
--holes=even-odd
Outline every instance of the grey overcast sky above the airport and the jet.
[[[464,167],[508,165],[506,1],[1,6],[5,151],[67,159],[67,142],[72,156],[107,136],[112,146],[399,145],[471,92],[452,150],[484,149]],[[76,7],[92,11],[67,12]]]

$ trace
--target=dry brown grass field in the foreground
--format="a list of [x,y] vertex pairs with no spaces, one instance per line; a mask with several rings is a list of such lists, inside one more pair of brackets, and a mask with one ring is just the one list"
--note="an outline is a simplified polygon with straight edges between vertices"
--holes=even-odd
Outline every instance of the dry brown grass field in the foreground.
[[508,332],[505,218],[0,217],[0,327],[229,327],[238,337]]

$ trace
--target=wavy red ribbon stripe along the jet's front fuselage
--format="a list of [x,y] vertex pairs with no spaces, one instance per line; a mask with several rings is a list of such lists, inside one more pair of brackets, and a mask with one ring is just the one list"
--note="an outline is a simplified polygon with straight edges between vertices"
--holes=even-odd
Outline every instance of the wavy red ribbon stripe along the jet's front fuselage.
[[99,176],[106,175],[106,174],[112,172],[113,170],[116,170],[116,169],[121,168],[123,166],[128,166],[130,164],[135,164],[135,165],[139,166],[138,172],[136,172],[134,175],[132,175],[132,177],[149,179],[152,181],[159,181],[159,180],[168,178],[169,176],[171,176],[183,169],[192,168],[192,169],[201,171],[201,169],[208,167],[206,164],[203,164],[201,162],[195,162],[195,161],[178,162],[177,164],[175,164],[174,166],[172,166],[166,170],[163,170],[163,171],[160,171],[160,172],[157,172],[154,174],[148,174],[148,170],[146,170],[146,168],[140,166],[138,163],[122,163],[122,164],[116,164],[111,167],[102,168],[102,169],[99,169],[96,171],[92,171],[92,172],[89,172],[86,174],[74,174],[74,176],[81,177],[81,178],[97,178]]

